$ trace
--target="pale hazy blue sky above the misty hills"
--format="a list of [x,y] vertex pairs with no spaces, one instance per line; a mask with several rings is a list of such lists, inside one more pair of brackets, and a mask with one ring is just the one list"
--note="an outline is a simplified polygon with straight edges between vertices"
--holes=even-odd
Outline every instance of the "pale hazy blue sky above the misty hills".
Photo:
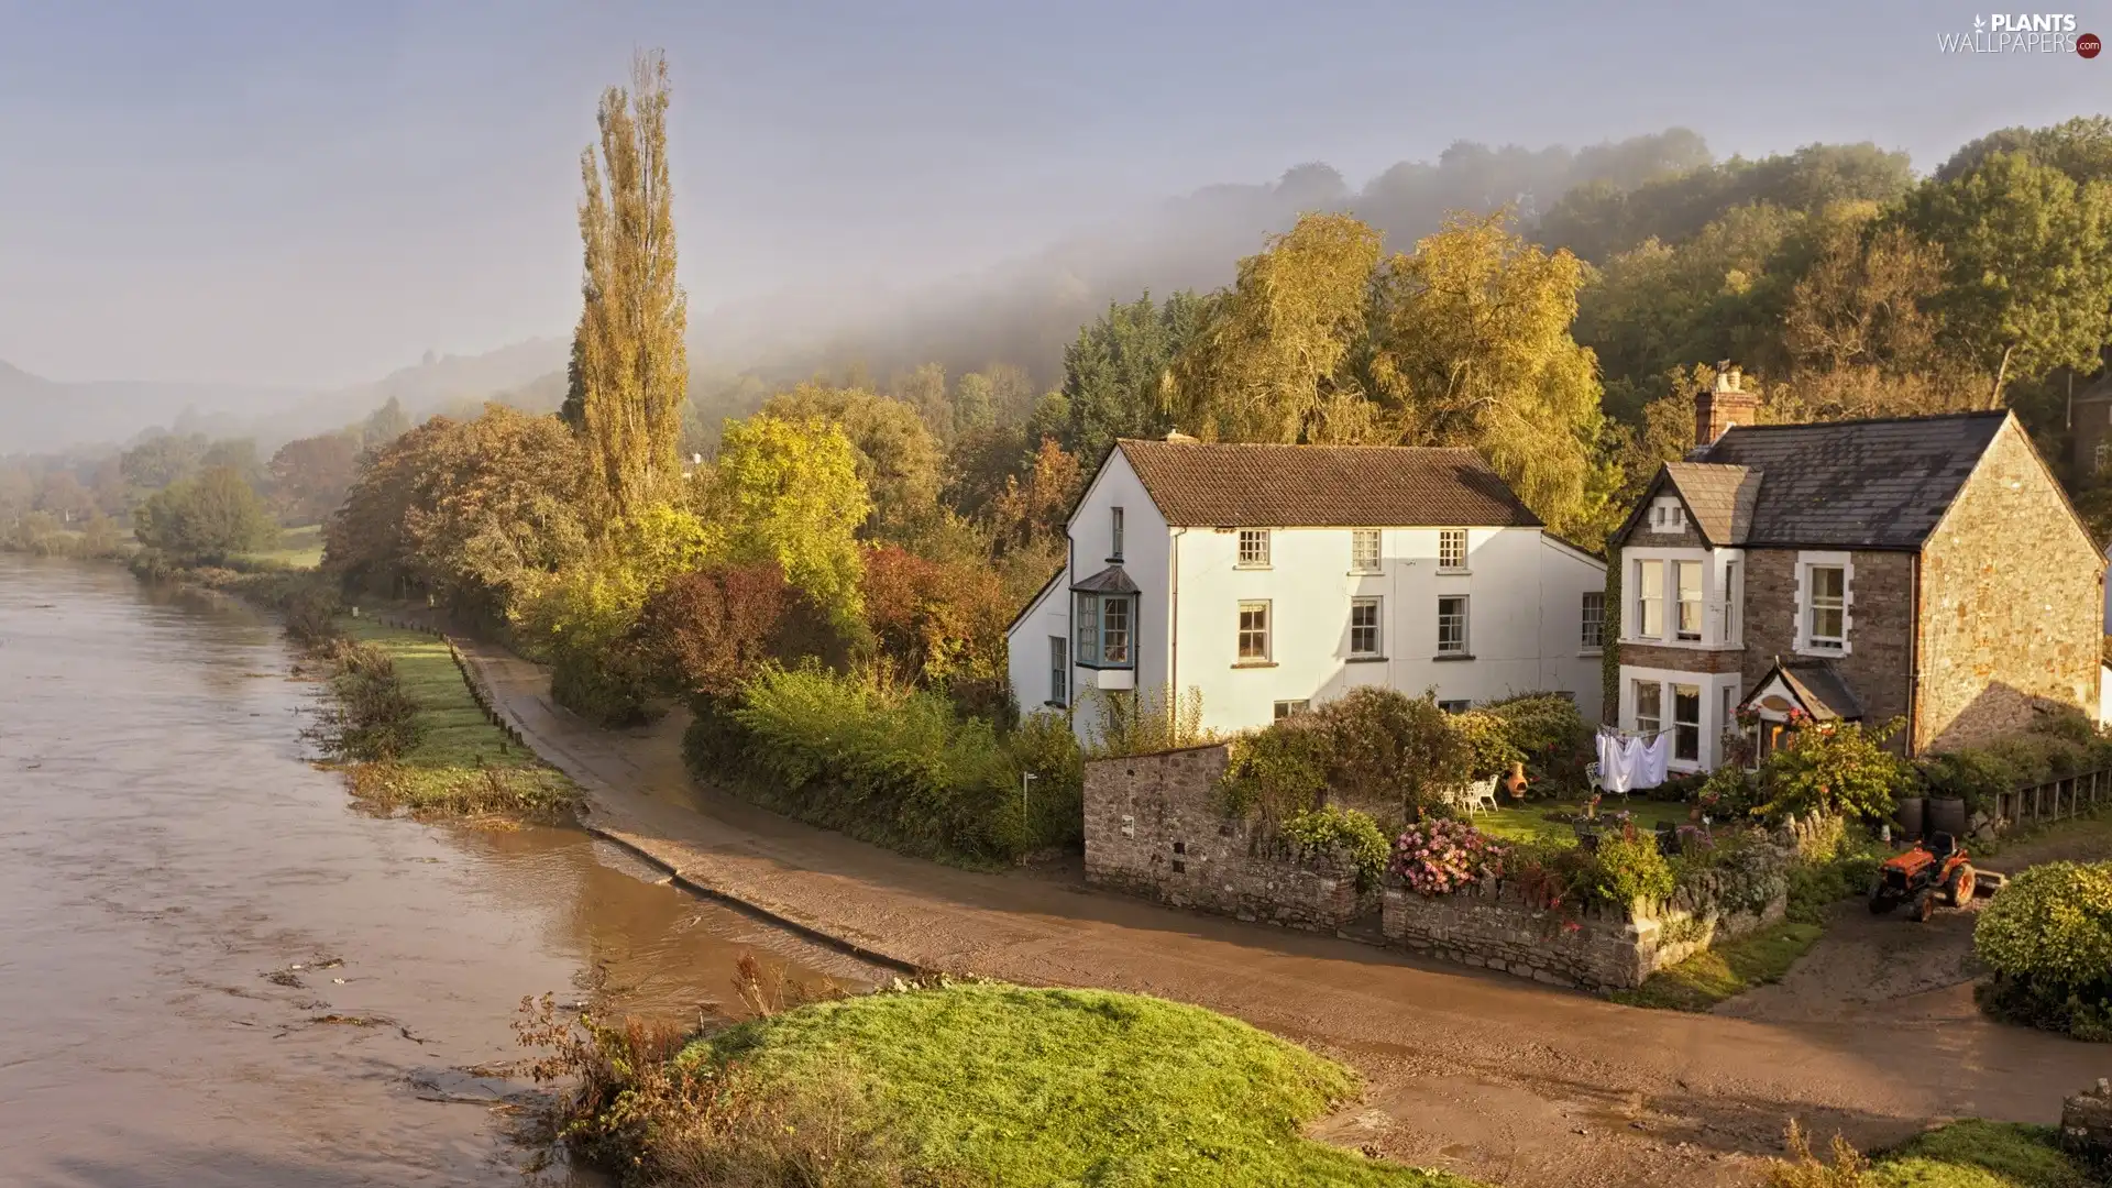
[[[336,385],[564,334],[579,150],[674,70],[693,309],[942,275],[1210,182],[1687,125],[1918,167],[2112,110],[2112,55],[1945,57],[1975,8],[0,0],[0,359]],[[2085,30],[2106,19],[2078,13]]]

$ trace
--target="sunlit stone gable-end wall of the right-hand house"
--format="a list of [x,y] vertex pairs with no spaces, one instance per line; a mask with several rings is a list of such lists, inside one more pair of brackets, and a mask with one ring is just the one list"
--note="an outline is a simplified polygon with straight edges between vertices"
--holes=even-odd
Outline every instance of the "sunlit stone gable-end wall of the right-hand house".
[[2040,706],[2095,719],[2101,643],[2104,558],[2011,421],[1922,550],[1916,742],[1983,744]]

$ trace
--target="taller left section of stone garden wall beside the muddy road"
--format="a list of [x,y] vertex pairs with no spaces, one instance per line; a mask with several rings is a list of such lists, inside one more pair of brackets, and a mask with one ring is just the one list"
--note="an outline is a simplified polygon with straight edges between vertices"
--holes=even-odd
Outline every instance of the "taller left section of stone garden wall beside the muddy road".
[[1350,867],[1223,812],[1223,744],[1086,763],[1086,881],[1240,920],[1335,932],[1377,907]]

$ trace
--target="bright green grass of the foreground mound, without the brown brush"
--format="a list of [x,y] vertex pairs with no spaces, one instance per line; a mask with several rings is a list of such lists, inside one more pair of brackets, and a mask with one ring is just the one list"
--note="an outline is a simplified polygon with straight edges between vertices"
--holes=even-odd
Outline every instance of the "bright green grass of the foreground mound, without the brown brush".
[[1423,1186],[1301,1137],[1356,1074],[1246,1023],[1090,989],[948,985],[800,1006],[697,1040],[775,1084],[849,1068],[914,1163],[1007,1186]]

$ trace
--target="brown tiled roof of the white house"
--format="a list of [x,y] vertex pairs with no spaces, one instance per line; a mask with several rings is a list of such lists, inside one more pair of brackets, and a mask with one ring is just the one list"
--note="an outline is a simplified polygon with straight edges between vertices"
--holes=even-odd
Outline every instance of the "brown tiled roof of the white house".
[[1168,524],[1538,528],[1474,450],[1119,442]]

